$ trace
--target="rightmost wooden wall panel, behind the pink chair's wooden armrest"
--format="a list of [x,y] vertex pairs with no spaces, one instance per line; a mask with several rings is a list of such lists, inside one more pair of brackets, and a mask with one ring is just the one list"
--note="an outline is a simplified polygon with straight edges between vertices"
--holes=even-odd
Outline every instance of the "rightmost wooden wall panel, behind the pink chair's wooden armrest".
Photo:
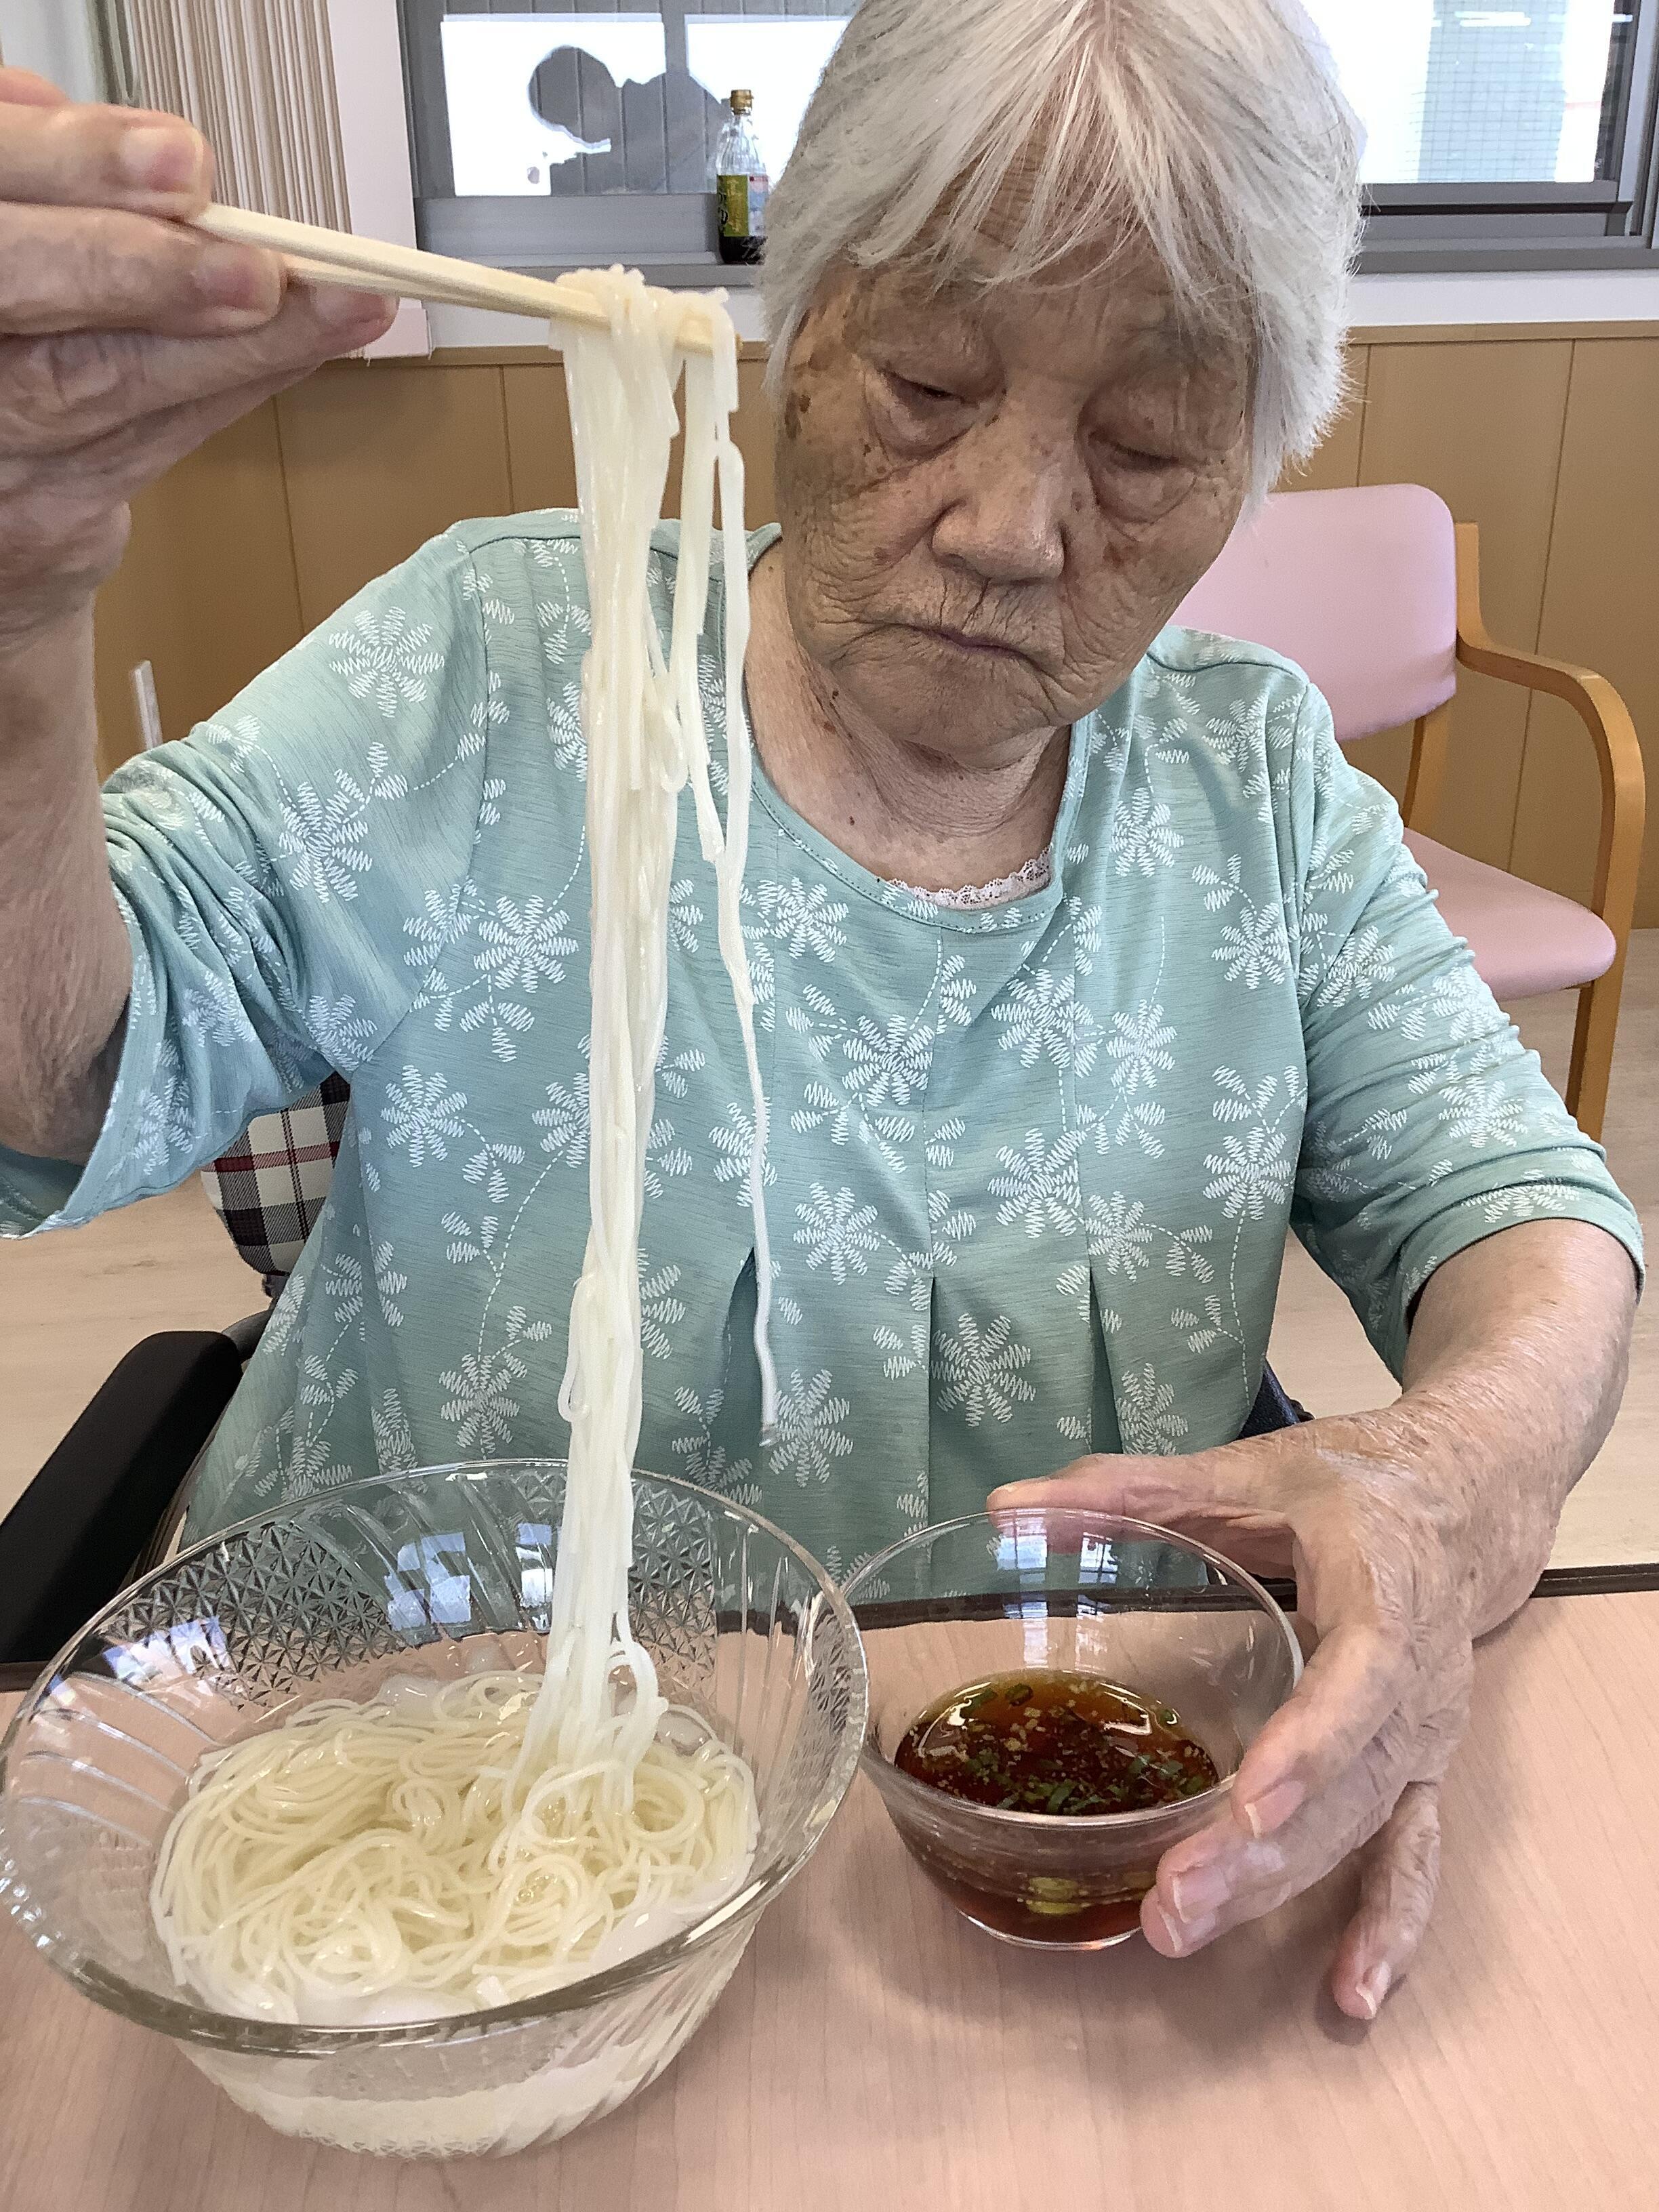
[[[1582,338],[1562,445],[1540,650],[1619,686],[1648,761],[1648,865],[1637,922],[1659,925],[1659,345]],[[1590,889],[1595,754],[1540,699],[1526,734],[1515,867],[1568,898]]]

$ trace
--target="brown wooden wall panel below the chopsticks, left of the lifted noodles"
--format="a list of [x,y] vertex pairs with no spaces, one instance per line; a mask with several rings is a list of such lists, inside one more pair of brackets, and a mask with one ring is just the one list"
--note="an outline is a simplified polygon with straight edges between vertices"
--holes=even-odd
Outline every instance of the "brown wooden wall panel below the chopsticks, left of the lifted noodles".
[[276,420],[307,630],[451,522],[513,509],[495,367],[336,363]]

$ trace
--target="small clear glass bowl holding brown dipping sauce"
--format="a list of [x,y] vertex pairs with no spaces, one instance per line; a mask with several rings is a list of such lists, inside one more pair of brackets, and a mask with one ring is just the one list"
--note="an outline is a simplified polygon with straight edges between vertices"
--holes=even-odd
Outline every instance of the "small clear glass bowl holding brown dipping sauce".
[[[1104,1951],[1137,1931],[1161,1854],[1214,1818],[1303,1668],[1259,1582],[1188,1537],[1108,1513],[1026,1506],[920,1528],[843,1595],[869,1668],[863,1772],[951,1905],[1033,1949]],[[1068,1818],[973,1805],[894,1765],[936,1699],[1037,1668],[1102,1674],[1172,1705],[1221,1783],[1150,1812]]]

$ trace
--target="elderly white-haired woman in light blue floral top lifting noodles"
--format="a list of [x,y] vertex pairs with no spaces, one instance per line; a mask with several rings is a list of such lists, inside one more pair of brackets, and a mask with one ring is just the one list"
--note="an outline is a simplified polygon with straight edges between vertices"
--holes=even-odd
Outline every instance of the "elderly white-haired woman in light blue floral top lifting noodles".
[[[449,531],[100,803],[124,500],[385,307],[168,221],[208,197],[184,126],[0,93],[0,1223],[166,1190],[338,1068],[334,1194],[195,1526],[560,1451],[575,522]],[[1042,1478],[1294,1566],[1305,1686],[1144,1924],[1192,1951],[1369,1845],[1334,1964],[1369,2017],[1429,1911],[1471,1639],[1613,1418],[1637,1230],[1307,679],[1168,628],[1329,416],[1354,226],[1290,0],[854,18],[774,201],[783,529],[752,540],[783,1409],[763,1442],[748,1093],[686,834],[639,1455],[838,1568]],[[1405,1391],[1239,1442],[1287,1228]]]

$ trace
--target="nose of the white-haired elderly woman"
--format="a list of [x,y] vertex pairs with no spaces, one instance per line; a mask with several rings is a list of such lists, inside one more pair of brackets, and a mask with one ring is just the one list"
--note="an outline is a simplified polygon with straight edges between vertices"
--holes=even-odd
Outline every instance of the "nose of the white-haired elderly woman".
[[1053,584],[1079,495],[1075,442],[1031,422],[989,422],[953,458],[953,495],[933,526],[938,557],[987,584]]

